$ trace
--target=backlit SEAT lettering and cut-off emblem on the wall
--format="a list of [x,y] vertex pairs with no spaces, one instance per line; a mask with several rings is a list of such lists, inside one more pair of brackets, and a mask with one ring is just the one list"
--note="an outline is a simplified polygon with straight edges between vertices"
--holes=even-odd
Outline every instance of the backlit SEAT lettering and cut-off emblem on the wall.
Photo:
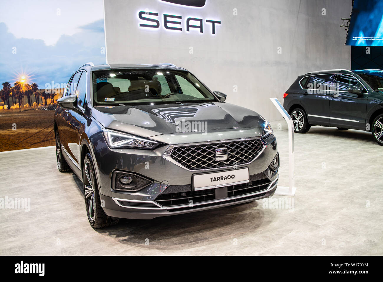
[[[167,2],[172,4],[178,4],[189,7],[203,7],[206,0],[160,0],[161,2]],[[166,30],[176,30],[190,32],[191,30],[199,30],[200,33],[215,34],[218,25],[221,21],[203,19],[200,17],[191,18],[188,17],[185,20],[185,16],[182,15],[160,15],[157,12],[140,11],[138,12],[138,18],[141,20],[139,26],[142,28],[159,28],[161,25]]]

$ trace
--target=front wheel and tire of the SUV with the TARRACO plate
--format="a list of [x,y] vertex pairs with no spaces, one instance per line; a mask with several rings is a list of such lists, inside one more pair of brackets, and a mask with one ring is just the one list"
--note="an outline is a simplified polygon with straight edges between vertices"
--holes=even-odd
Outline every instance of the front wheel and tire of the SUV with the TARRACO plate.
[[83,188],[85,209],[90,225],[93,228],[104,228],[118,223],[119,219],[112,219],[106,215],[101,207],[100,194],[98,193],[97,179],[95,177],[95,169],[93,165],[92,155],[87,153],[84,158],[83,171]]

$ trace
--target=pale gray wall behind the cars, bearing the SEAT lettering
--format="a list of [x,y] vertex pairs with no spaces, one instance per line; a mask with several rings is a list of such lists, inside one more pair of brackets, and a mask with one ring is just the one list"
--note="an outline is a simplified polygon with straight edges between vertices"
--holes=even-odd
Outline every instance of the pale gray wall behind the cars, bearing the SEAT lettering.
[[[351,0],[206,0],[202,8],[160,0],[104,3],[109,64],[182,66],[212,91],[226,93],[227,102],[253,109],[269,120],[282,118],[269,97],[282,102],[283,93],[298,75],[350,68],[351,49],[344,46],[346,31],[339,25],[340,18],[349,16]],[[139,27],[139,23],[149,23],[138,18],[139,11],[159,13],[151,18],[160,21],[160,28]],[[183,30],[166,30],[164,13],[182,16]],[[216,25],[215,35],[207,23],[204,33],[193,28],[187,32],[188,17],[220,20],[221,24]],[[278,47],[282,54],[277,53]]]

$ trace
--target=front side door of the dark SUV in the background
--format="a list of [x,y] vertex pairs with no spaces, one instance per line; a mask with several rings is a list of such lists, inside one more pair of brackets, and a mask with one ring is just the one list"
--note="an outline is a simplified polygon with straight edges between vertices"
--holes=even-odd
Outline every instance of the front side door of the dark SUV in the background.
[[337,94],[330,99],[330,125],[364,130],[367,90],[351,74],[337,74],[334,76],[334,82]]

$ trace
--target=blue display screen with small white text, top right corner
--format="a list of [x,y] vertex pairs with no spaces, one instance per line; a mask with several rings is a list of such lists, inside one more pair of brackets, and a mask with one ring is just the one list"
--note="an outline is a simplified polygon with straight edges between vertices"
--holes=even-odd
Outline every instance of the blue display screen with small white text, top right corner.
[[383,46],[383,0],[354,0],[346,45]]

